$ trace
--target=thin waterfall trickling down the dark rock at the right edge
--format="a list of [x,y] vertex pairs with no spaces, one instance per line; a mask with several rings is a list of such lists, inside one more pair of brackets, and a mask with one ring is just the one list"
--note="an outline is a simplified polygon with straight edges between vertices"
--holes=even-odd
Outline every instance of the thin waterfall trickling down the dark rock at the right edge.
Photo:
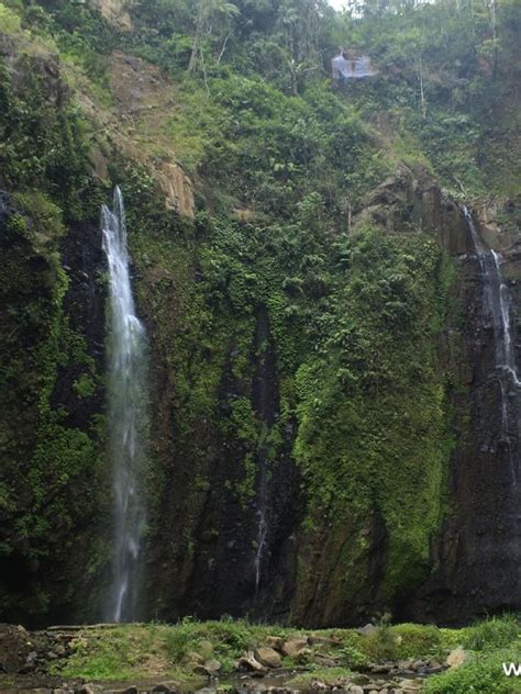
[[[485,311],[492,321],[494,345],[495,345],[495,371],[499,380],[501,392],[501,436],[507,444],[508,456],[512,469],[512,481],[517,484],[518,466],[514,464],[512,447],[510,444],[510,422],[514,418],[518,435],[520,429],[519,416],[519,391],[521,381],[516,367],[514,340],[510,321],[510,295],[509,289],[501,272],[502,257],[491,248],[487,248],[476,230],[473,216],[467,208],[463,208],[463,213],[470,230],[476,255],[479,260],[480,273],[484,286]],[[511,403],[509,389],[514,388],[518,396]],[[512,412],[512,404],[516,412]]]

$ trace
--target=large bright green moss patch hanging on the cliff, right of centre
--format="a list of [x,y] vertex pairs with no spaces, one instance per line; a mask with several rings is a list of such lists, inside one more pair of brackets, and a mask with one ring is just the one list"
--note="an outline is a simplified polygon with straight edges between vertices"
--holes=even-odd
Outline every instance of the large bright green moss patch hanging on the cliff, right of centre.
[[339,514],[358,524],[381,513],[391,597],[421,579],[441,520],[451,439],[432,344],[451,276],[424,238],[369,233],[343,253],[348,269],[331,302],[324,359],[297,377],[296,455],[311,516],[326,508],[340,526]]

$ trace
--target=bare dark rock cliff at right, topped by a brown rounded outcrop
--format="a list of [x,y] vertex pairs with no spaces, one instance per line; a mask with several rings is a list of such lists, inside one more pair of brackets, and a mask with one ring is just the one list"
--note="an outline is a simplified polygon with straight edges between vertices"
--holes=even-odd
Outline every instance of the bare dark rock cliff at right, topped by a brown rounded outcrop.
[[[497,213],[497,209],[495,210]],[[485,245],[508,243],[494,209],[477,210],[476,228]],[[431,578],[403,616],[463,623],[520,604],[519,389],[497,368],[498,335],[487,301],[495,278],[484,275],[462,210],[421,172],[402,171],[367,201],[361,220],[392,233],[414,224],[436,233],[453,256],[456,278],[447,325],[440,344],[440,368],[450,374],[454,448],[447,470],[448,500],[441,534],[433,538]],[[507,248],[500,271],[507,278],[512,337],[520,294],[519,248]],[[519,363],[519,343],[514,357]],[[376,579],[376,577],[375,577]],[[378,581],[375,580],[377,584]]]

